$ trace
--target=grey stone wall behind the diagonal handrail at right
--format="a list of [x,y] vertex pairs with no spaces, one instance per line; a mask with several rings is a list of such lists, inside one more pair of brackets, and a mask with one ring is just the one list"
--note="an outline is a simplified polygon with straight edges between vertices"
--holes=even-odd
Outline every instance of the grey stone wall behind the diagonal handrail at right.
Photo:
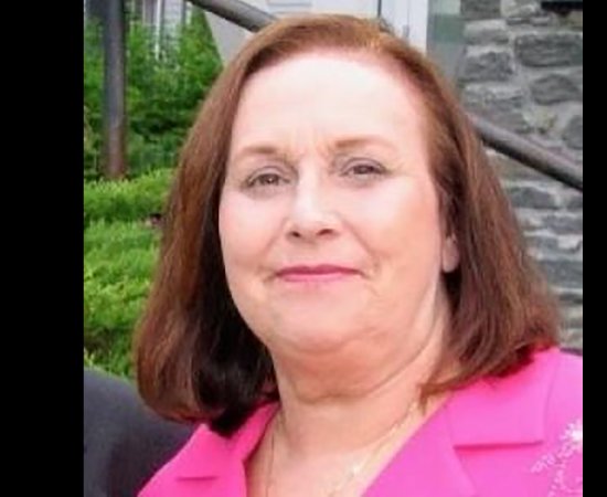
[[[536,0],[461,0],[465,105],[579,163],[583,155],[583,14]],[[581,348],[583,199],[575,190],[494,155],[532,254],[558,295],[563,340]]]

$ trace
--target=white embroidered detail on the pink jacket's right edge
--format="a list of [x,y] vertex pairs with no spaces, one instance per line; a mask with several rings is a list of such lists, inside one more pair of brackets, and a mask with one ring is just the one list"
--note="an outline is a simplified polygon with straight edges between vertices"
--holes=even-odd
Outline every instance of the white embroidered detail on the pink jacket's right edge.
[[575,482],[567,482],[566,470],[573,456],[582,456],[584,447],[584,431],[582,419],[569,423],[560,436],[558,447],[544,455],[531,468],[532,473],[551,470],[553,473],[552,484],[547,497],[562,495],[582,495],[582,476]]

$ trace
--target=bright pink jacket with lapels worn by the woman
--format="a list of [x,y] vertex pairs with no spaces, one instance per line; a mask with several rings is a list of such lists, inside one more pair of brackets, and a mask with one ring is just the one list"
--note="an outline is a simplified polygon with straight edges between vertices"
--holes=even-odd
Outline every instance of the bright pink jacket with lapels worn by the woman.
[[[243,462],[275,411],[260,408],[227,440],[201,426],[139,497],[245,497]],[[454,393],[364,495],[581,496],[582,434],[582,359],[551,349]]]

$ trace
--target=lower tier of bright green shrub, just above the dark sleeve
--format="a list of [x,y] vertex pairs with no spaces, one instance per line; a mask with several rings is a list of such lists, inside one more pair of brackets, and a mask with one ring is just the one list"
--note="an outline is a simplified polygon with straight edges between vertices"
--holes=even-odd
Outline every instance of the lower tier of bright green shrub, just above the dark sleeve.
[[84,233],[85,364],[131,376],[130,341],[149,292],[159,232],[95,221]]

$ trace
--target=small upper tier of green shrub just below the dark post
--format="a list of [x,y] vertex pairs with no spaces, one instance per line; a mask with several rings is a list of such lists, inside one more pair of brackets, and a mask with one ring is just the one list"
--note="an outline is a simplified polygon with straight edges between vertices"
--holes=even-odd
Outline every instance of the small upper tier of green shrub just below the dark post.
[[132,180],[85,182],[85,228],[100,220],[142,221],[161,212],[172,176],[172,169],[157,169]]

